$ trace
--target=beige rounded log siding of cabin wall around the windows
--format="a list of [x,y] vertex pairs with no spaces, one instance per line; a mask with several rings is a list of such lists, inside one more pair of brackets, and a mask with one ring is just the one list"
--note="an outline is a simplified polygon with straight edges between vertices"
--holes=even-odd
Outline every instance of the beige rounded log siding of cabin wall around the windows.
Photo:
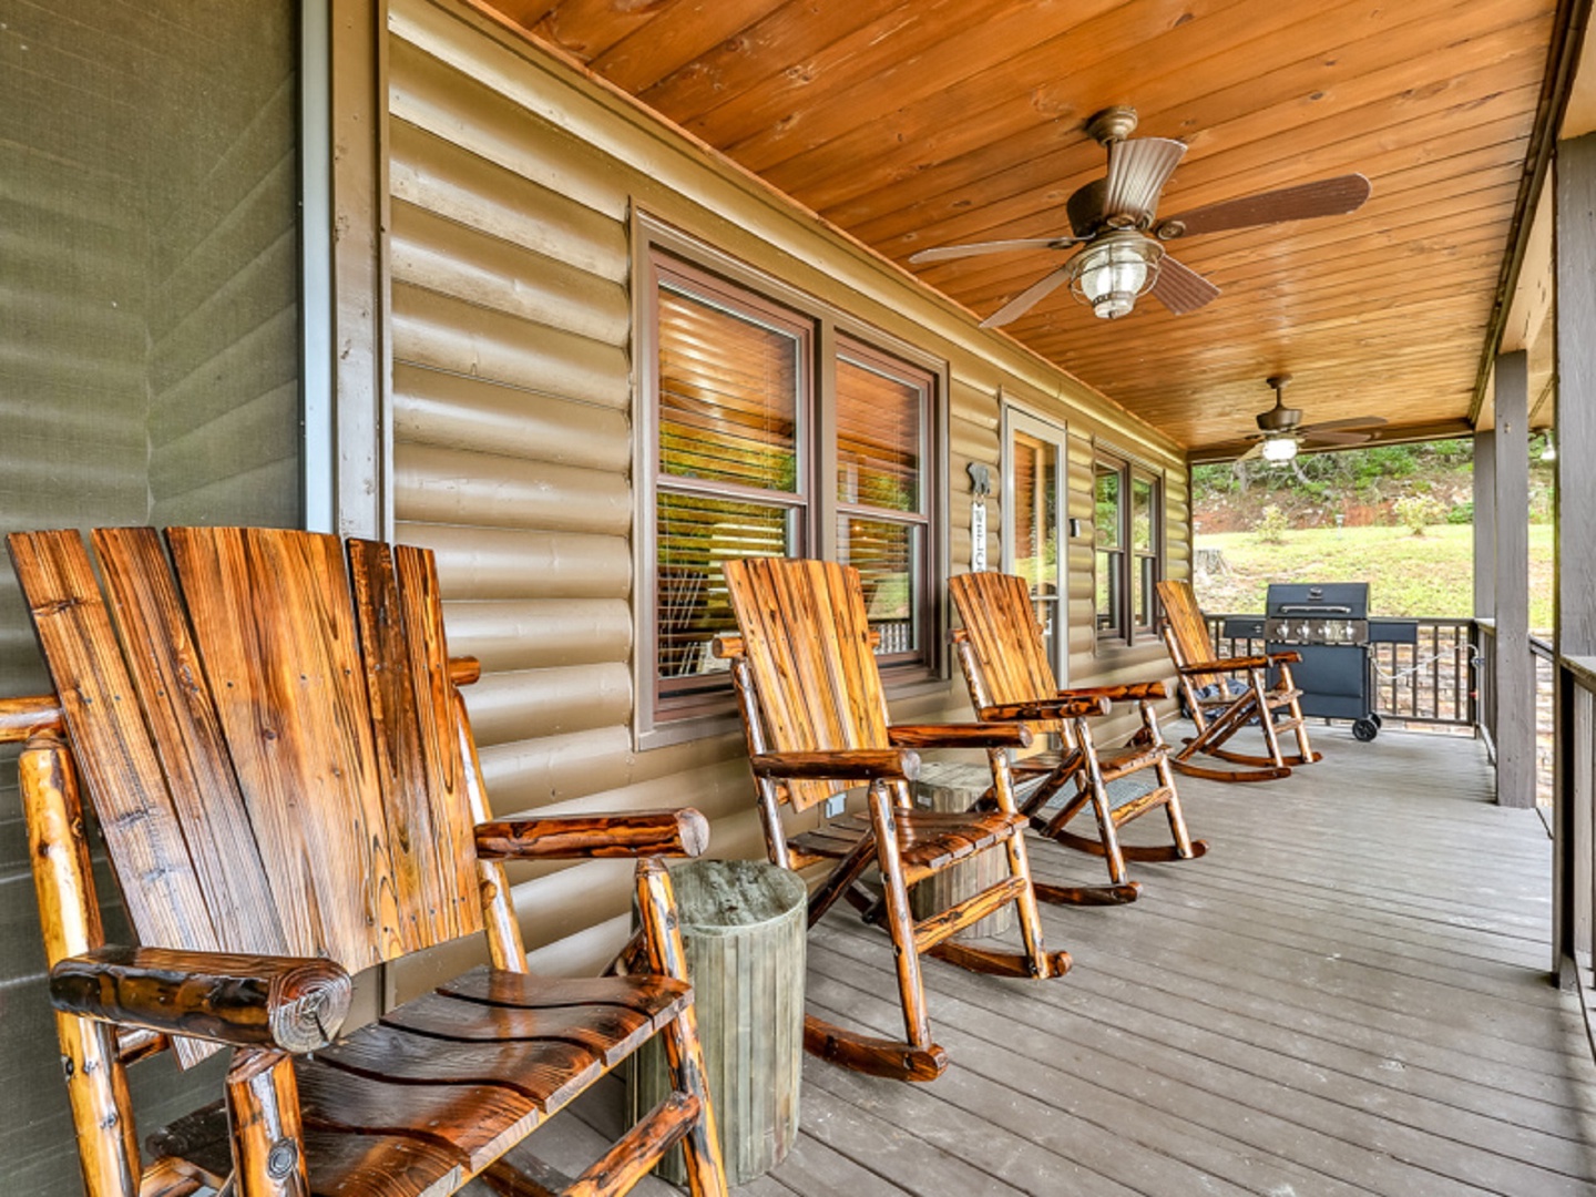
[[[1077,381],[484,18],[394,0],[389,30],[396,535],[437,551],[452,648],[484,662],[468,704],[496,812],[691,803],[712,854],[763,851],[741,736],[634,749],[634,209],[948,362],[954,570],[969,568],[970,461],[993,472],[988,560],[1001,560],[1004,388],[1073,437],[1079,423],[1088,455],[1106,431],[1184,469]],[[1090,485],[1090,468],[1077,474],[1073,487]],[[1071,514],[1090,519],[1084,501]],[[1090,552],[1071,595],[1090,630]],[[1077,680],[1104,675],[1090,642],[1073,653]],[[894,713],[962,718],[969,701],[958,681]],[[538,967],[613,951],[629,878],[622,862],[514,870]],[[396,994],[479,951],[396,967]]]

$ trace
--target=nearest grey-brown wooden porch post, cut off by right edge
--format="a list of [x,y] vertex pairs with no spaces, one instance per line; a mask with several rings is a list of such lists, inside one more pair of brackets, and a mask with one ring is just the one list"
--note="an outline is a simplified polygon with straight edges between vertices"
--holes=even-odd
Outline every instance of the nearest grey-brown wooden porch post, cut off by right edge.
[[[1556,160],[1556,319],[1558,388],[1553,423],[1558,429],[1558,517],[1556,517],[1556,648],[1558,658],[1596,656],[1596,134],[1558,144]],[[1593,812],[1575,812],[1575,801],[1591,801],[1590,772],[1578,769],[1588,742],[1575,749],[1580,728],[1572,718],[1583,705],[1572,693],[1564,670],[1558,670],[1556,788],[1553,809],[1553,972],[1559,982],[1574,982],[1577,953],[1590,953],[1591,892],[1590,851]],[[1590,734],[1590,721],[1585,721]],[[1583,830],[1583,835],[1577,832]],[[1582,844],[1583,841],[1583,844]],[[1582,884],[1583,883],[1583,884]],[[1583,932],[1583,934],[1580,934]]]

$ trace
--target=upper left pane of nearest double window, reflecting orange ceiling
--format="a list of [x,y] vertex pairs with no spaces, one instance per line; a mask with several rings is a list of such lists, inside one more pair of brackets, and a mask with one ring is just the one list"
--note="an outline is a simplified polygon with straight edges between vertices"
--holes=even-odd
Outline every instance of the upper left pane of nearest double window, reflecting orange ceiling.
[[659,287],[659,469],[798,490],[803,340]]

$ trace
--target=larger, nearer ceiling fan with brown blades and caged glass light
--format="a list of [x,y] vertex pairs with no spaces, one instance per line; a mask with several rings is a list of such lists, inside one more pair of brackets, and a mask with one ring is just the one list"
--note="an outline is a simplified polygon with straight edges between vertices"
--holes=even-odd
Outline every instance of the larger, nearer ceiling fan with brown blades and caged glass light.
[[1136,110],[1124,105],[1104,109],[1087,121],[1087,136],[1108,148],[1108,176],[1079,188],[1065,203],[1071,236],[940,246],[911,254],[908,260],[948,262],[1017,249],[1082,246],[1065,265],[983,319],[983,329],[1018,319],[1065,282],[1104,319],[1128,316],[1136,298],[1149,290],[1165,308],[1184,316],[1218,297],[1219,289],[1170,257],[1163,249],[1165,241],[1315,215],[1341,215],[1357,211],[1369,198],[1368,179],[1361,174],[1342,174],[1157,220],[1159,192],[1186,153],[1186,144],[1168,137],[1133,139],[1130,134],[1135,129]]

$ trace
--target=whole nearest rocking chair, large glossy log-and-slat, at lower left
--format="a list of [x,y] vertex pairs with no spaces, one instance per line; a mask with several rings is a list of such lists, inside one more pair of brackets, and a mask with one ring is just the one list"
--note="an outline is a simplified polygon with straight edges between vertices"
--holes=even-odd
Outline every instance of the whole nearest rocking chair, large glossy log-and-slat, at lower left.
[[[56,686],[0,704],[89,1197],[619,1194],[681,1143],[725,1194],[693,990],[658,855],[696,811],[493,820],[433,555],[303,531],[10,538]],[[115,627],[112,613],[115,611]],[[120,635],[118,635],[120,634]],[[139,946],[104,942],[80,779]],[[527,970],[504,860],[637,855],[646,970]],[[350,974],[487,935],[492,967],[338,1036]],[[640,1042],[672,1093],[583,1176],[504,1152]],[[152,1136],[126,1068],[231,1049],[225,1100]]]

